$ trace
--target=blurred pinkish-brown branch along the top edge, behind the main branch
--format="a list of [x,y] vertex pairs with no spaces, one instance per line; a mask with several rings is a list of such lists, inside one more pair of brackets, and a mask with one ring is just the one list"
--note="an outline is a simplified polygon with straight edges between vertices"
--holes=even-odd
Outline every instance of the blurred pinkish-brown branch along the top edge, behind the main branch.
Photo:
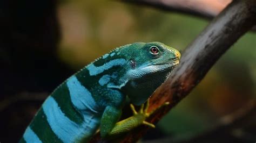
[[[172,12],[180,12],[188,15],[203,17],[207,19],[213,19],[217,16],[220,11],[222,11],[231,0],[222,0],[222,1],[212,1],[212,0],[204,0],[204,1],[187,1],[187,0],[122,0],[124,2],[139,4],[139,5],[147,5],[152,8],[157,8],[160,10],[172,11]],[[256,26],[252,28],[253,31],[256,31]]]

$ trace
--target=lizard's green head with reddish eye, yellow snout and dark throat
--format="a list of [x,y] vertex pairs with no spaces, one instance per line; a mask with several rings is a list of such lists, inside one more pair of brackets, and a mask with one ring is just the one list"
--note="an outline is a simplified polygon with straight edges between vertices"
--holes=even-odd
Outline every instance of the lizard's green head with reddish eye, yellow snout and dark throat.
[[121,53],[129,60],[125,67],[126,83],[121,90],[135,105],[144,103],[165,82],[180,59],[177,49],[160,42],[137,42]]

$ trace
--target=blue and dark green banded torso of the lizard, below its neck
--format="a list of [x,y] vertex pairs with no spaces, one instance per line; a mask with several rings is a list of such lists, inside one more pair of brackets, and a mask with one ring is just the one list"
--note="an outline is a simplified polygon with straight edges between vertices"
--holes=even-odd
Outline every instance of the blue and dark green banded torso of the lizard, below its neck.
[[73,75],[46,99],[26,129],[23,140],[73,142],[86,139],[99,126],[100,112],[96,107],[90,91]]

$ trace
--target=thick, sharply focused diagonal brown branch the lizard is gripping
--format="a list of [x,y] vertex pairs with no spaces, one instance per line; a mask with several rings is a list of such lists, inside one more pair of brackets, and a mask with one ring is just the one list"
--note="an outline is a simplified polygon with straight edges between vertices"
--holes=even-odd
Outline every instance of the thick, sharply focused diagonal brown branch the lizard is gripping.
[[[201,81],[220,56],[256,24],[256,1],[233,1],[185,49],[180,65],[151,98],[149,110],[170,102],[149,121],[156,123]],[[135,142],[147,131],[139,127],[126,134],[122,142]],[[97,142],[94,138],[93,141]]]

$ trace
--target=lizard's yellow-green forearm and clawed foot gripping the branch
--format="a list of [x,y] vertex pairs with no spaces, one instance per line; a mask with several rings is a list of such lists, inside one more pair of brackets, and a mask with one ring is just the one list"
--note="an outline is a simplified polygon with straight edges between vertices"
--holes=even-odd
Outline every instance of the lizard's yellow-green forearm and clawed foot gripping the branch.
[[166,102],[152,112],[147,113],[147,109],[149,108],[149,99],[147,100],[146,105],[142,104],[142,106],[140,106],[140,110],[138,112],[135,110],[134,106],[130,104],[133,116],[116,123],[111,132],[107,135],[107,138],[116,137],[116,135],[129,132],[140,125],[147,125],[154,128],[155,126],[153,124],[145,120],[156,110],[159,110],[161,107],[166,105],[169,105],[169,102]]

